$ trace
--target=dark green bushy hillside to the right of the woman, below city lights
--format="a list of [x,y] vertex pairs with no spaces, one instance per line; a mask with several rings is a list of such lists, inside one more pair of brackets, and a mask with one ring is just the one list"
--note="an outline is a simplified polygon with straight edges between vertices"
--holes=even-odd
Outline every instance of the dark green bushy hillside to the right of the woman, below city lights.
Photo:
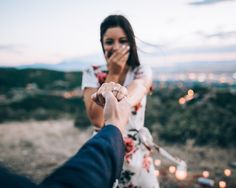
[[148,98],[146,126],[172,144],[236,146],[236,93],[221,87],[158,85]]

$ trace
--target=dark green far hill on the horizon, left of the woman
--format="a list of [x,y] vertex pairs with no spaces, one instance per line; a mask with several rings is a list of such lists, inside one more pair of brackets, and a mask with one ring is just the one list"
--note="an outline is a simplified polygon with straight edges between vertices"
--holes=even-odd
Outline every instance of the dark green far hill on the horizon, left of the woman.
[[61,72],[47,69],[0,68],[0,92],[24,88],[34,83],[39,89],[71,89],[81,84],[82,72]]

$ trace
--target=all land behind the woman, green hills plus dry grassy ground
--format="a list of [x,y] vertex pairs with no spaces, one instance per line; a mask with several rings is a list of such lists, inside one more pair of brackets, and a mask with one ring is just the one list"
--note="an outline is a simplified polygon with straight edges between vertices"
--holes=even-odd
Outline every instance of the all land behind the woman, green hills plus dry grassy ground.
[[[203,170],[234,187],[235,175],[226,178],[223,170],[236,167],[235,73],[154,76],[145,125],[155,142],[185,160],[189,170],[179,181],[169,173],[170,163],[155,156],[163,163],[156,166],[161,187],[195,188]],[[0,69],[0,163],[40,182],[76,152],[92,132],[81,79],[81,71]]]

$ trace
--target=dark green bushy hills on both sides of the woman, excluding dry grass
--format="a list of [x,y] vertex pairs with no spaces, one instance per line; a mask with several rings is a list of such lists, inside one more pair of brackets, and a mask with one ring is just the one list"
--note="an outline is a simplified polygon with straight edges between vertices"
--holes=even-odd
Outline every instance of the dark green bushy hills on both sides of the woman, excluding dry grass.
[[[88,127],[81,78],[82,72],[0,69],[0,122],[65,117]],[[191,100],[180,104],[190,89]],[[166,142],[236,146],[235,106],[235,84],[156,80],[145,124]]]

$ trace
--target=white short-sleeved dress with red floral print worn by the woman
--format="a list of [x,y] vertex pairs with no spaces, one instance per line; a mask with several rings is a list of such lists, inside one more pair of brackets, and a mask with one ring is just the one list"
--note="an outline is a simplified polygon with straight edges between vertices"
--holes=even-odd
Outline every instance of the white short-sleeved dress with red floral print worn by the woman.
[[[99,88],[107,76],[107,66],[92,66],[83,72],[82,89]],[[129,69],[124,81],[128,86],[134,79],[148,76],[152,79],[150,67],[140,65],[135,69]],[[117,187],[119,188],[159,188],[153,159],[150,157],[150,149],[143,140],[152,139],[148,129],[144,127],[146,107],[146,95],[131,110],[128,125],[124,134],[126,154],[123,170]],[[141,135],[142,133],[142,135]],[[142,136],[142,137],[141,137]]]

